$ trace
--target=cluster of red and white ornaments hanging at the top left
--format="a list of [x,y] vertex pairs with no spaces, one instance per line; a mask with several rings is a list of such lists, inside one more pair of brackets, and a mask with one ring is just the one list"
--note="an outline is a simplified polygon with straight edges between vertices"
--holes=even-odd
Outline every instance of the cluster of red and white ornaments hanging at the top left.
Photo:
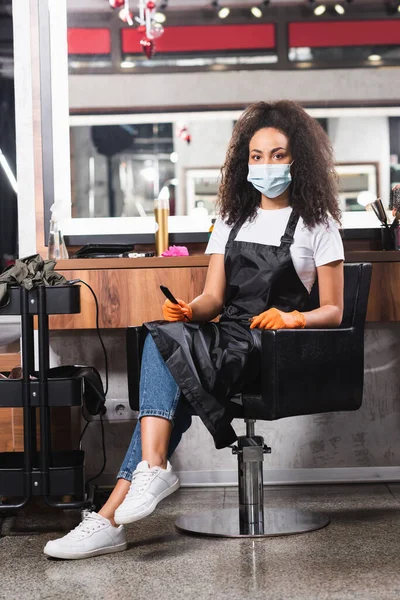
[[128,25],[138,23],[137,32],[141,34],[140,45],[148,59],[154,56],[156,45],[154,40],[164,33],[164,27],[156,20],[156,2],[153,0],[139,0],[137,17],[130,9],[132,0],[108,0],[111,8],[119,9],[119,18]]

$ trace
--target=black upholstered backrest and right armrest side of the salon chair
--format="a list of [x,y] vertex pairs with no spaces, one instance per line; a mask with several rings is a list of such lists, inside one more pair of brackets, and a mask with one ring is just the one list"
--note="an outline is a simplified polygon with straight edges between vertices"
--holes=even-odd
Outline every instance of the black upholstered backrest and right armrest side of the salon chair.
[[[281,329],[262,334],[261,398],[243,394],[246,418],[275,420],[357,410],[364,381],[364,324],[370,264],[344,265],[344,311],[339,328]],[[318,306],[318,287],[313,289]]]

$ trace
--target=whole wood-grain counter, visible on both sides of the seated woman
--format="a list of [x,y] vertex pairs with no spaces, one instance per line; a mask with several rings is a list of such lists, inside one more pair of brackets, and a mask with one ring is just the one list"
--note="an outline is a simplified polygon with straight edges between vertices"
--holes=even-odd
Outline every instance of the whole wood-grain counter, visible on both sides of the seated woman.
[[[101,328],[124,328],[162,319],[166,285],[183,300],[198,296],[204,286],[209,257],[70,259],[56,269],[68,280],[82,279],[92,286],[100,307]],[[346,262],[371,262],[372,281],[367,321],[400,321],[400,252],[349,251]],[[82,311],[50,318],[52,329],[94,329],[93,297],[82,285]]]

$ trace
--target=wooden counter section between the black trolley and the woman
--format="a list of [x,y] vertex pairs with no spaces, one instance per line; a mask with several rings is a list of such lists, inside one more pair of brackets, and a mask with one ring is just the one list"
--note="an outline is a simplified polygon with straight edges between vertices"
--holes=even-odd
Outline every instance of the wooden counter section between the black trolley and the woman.
[[[68,280],[82,279],[99,300],[101,328],[123,328],[144,321],[162,319],[165,300],[160,285],[183,300],[192,300],[203,291],[209,257],[204,254],[178,258],[71,259],[56,269]],[[94,329],[96,313],[93,296],[81,287],[82,311],[78,315],[50,317],[52,329]]]

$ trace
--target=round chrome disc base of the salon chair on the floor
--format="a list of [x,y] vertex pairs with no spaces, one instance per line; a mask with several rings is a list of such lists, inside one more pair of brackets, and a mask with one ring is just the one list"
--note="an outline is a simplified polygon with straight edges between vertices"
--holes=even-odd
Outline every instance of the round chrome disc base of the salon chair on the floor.
[[264,513],[263,527],[258,523],[241,523],[238,508],[209,510],[179,517],[175,527],[182,533],[195,535],[255,538],[306,533],[329,524],[326,515],[316,512],[265,507]]

